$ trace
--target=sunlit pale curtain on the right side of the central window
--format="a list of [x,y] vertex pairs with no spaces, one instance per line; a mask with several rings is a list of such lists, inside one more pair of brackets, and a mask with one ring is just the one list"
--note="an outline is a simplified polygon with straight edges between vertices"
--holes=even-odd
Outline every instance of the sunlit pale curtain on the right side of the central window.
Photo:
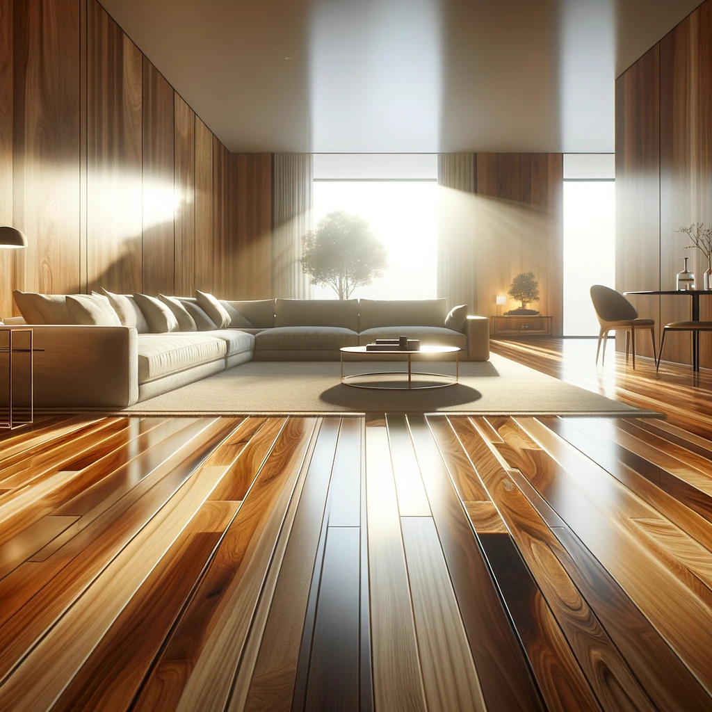
[[477,312],[474,201],[476,159],[473,153],[438,156],[440,189],[438,225],[438,296],[447,308],[467,304]]

